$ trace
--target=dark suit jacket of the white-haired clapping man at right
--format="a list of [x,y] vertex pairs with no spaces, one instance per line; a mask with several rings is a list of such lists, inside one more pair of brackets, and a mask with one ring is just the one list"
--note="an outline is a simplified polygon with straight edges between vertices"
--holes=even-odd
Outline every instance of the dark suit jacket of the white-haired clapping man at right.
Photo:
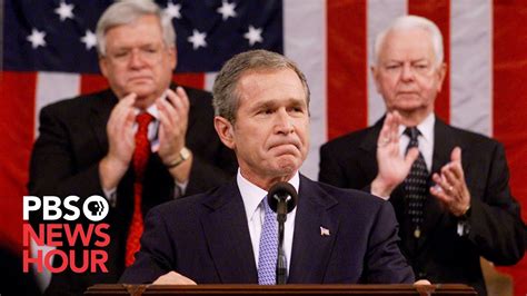
[[[335,139],[320,149],[319,180],[344,188],[365,188],[377,176],[377,138],[382,119],[374,127]],[[418,278],[432,283],[465,283],[479,293],[485,283],[479,256],[498,265],[517,263],[524,255],[519,205],[510,195],[504,147],[487,137],[457,129],[436,118],[432,172],[461,148],[465,179],[470,191],[470,233],[457,235],[458,219],[434,196],[425,203],[419,241],[411,236],[405,216],[405,191],[396,188],[390,201],[401,226],[401,250]],[[369,189],[369,188],[368,188]]]

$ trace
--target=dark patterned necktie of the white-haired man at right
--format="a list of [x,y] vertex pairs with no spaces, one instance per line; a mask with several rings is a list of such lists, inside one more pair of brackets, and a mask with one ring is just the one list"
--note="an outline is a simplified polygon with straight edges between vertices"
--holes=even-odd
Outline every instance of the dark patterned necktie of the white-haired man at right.
[[[410,137],[410,142],[406,148],[406,152],[412,147],[419,147],[417,137],[419,130],[416,127],[407,128],[405,134]],[[425,158],[419,151],[419,156],[411,165],[410,172],[405,179],[407,214],[410,217],[414,227],[414,237],[421,236],[420,226],[424,217],[424,204],[428,195],[428,169],[426,168]]]

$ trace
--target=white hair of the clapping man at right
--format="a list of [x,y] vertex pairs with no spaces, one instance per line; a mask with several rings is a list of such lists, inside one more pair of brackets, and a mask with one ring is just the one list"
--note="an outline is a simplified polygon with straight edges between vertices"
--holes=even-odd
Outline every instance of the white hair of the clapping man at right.
[[417,17],[417,16],[402,16],[397,18],[388,28],[377,34],[374,43],[374,65],[377,66],[379,62],[380,50],[384,46],[386,36],[390,31],[410,30],[410,29],[422,29],[430,33],[431,45],[434,47],[434,53],[436,56],[436,67],[443,63],[444,50],[443,50],[443,34],[439,28],[429,19]]

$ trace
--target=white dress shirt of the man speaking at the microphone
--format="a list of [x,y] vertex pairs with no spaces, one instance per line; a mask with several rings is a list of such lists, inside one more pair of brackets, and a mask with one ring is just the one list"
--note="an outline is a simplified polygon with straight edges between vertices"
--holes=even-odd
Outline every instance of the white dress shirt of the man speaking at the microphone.
[[[250,240],[252,244],[252,253],[255,254],[255,263],[256,267],[258,268],[261,227],[264,226],[264,218],[266,216],[266,210],[264,206],[260,206],[260,203],[265,197],[267,197],[267,191],[243,178],[243,176],[241,176],[240,169],[238,169],[236,180],[238,182],[238,188],[240,189],[241,199],[243,200]],[[298,187],[300,184],[298,171],[288,182],[291,184],[298,193]],[[288,272],[291,263],[292,234],[295,233],[296,215],[297,208],[287,214],[287,220],[284,225],[284,251],[286,253]]]

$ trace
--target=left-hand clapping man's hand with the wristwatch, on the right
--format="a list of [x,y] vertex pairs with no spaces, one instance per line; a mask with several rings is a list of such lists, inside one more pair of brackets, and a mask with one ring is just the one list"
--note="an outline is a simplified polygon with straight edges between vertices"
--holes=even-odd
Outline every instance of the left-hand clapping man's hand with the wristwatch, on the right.
[[[180,158],[179,151],[185,147],[187,135],[189,99],[181,87],[173,92],[167,90],[167,99],[158,99],[159,109],[159,157],[165,165],[170,165]],[[170,174],[178,181],[185,182],[190,174],[192,157],[181,166],[170,169]]]

